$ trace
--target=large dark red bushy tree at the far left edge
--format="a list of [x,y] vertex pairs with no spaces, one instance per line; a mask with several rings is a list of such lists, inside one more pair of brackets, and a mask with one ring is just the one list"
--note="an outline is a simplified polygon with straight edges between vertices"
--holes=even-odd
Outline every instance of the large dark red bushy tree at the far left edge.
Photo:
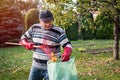
[[23,34],[23,16],[14,0],[0,2],[0,44],[5,41],[16,41]]

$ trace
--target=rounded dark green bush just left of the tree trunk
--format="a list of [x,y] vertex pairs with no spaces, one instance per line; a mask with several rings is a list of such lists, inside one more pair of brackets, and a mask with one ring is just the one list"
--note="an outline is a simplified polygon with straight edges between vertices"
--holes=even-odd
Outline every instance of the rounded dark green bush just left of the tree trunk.
[[96,38],[97,39],[113,39],[113,22],[104,13],[96,18]]

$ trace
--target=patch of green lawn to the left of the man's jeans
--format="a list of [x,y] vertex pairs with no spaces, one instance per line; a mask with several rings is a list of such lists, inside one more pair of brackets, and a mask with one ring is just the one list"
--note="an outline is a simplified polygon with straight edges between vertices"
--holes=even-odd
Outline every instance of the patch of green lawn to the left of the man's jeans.
[[23,47],[0,49],[0,80],[27,80],[32,52]]

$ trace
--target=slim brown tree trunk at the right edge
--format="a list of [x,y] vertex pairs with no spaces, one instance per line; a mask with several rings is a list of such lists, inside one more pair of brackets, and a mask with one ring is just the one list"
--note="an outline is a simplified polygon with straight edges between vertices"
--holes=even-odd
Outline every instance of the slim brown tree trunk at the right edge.
[[113,57],[115,60],[119,59],[119,16],[115,16],[115,18],[114,18]]

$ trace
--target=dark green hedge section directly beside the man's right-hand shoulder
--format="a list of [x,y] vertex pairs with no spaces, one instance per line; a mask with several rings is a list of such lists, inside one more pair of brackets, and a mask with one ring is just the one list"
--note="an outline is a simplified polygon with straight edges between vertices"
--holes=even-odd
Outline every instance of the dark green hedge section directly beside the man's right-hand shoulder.
[[72,24],[72,26],[66,29],[66,34],[69,40],[78,40],[78,23]]

